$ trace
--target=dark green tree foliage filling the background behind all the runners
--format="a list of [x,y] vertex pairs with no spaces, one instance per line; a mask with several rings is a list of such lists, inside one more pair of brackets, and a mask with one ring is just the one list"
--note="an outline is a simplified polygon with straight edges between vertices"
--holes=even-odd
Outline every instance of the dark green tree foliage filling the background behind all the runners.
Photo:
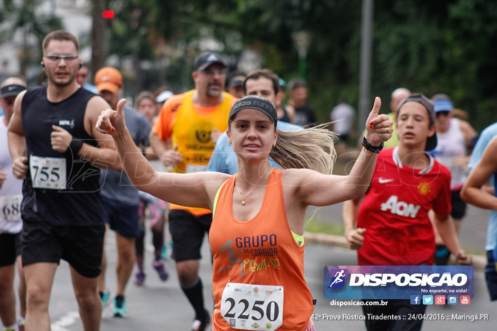
[[[36,13],[41,2],[4,0],[0,20],[10,18],[15,28],[42,38],[60,22]],[[134,73],[125,75],[136,89],[165,83],[177,92],[191,87],[193,59],[209,38],[232,69],[242,51],[252,49],[260,52],[261,66],[289,80],[298,75],[292,34],[305,30],[311,35],[309,102],[319,119],[328,120],[340,97],[358,103],[361,0],[105,2],[116,13],[109,53],[121,62],[132,60]],[[0,41],[14,29],[0,31]],[[372,32],[371,103],[381,96],[382,111],[389,112],[391,91],[405,86],[427,96],[448,94],[477,130],[497,121],[494,1],[376,0]]]

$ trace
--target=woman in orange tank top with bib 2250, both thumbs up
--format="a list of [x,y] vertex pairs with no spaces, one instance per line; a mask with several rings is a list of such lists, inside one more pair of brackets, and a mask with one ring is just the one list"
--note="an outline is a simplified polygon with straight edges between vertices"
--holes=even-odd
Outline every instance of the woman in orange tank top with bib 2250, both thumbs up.
[[[113,137],[132,184],[171,203],[213,210],[213,329],[315,330],[312,294],[304,279],[306,208],[364,194],[377,152],[392,134],[388,116],[378,115],[380,99],[366,122],[364,148],[347,176],[331,175],[332,132],[279,132],[274,105],[253,95],[238,100],[228,119],[238,174],[156,172],[129,135],[124,102],[117,111],[102,112],[96,127]],[[286,170],[271,169],[269,156]]]

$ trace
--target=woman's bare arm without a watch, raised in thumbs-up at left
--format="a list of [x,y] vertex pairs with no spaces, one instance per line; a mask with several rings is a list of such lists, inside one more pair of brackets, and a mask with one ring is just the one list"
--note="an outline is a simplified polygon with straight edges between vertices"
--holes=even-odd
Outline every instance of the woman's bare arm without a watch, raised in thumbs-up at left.
[[117,111],[106,109],[98,118],[96,129],[110,134],[131,184],[159,199],[189,207],[211,208],[217,188],[229,177],[226,174],[197,172],[174,174],[156,172],[135,145],[126,128],[121,99]]

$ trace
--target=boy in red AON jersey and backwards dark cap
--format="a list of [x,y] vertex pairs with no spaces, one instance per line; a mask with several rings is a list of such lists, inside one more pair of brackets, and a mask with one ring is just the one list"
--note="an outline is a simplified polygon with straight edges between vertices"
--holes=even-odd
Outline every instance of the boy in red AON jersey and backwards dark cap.
[[[450,216],[450,171],[426,153],[436,146],[433,103],[412,94],[399,105],[399,145],[378,155],[373,179],[361,198],[345,201],[343,222],[349,248],[359,265],[432,265],[435,251],[428,211],[458,264],[471,264],[461,249]],[[355,228],[357,224],[357,228]],[[387,306],[362,306],[364,315],[424,313],[425,305],[391,300]],[[368,315],[369,314],[369,315]],[[422,320],[369,320],[371,330],[420,330]]]

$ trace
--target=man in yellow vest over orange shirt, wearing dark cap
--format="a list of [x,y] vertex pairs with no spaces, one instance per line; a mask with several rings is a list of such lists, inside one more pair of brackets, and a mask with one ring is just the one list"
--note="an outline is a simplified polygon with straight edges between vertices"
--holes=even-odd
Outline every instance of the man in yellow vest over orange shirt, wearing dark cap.
[[[166,101],[150,135],[154,151],[175,173],[205,171],[217,137],[228,128],[228,114],[236,101],[223,92],[226,65],[219,55],[201,54],[195,60],[192,77],[195,89]],[[170,209],[169,231],[179,283],[195,310],[192,330],[205,330],[210,314],[204,307],[198,269],[200,247],[209,231],[212,212],[174,204]]]

